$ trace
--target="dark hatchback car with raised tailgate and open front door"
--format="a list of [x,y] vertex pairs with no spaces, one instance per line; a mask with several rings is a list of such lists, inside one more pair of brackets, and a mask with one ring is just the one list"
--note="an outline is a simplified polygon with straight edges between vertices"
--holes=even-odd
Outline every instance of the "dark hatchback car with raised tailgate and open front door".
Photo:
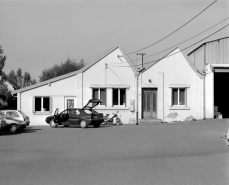
[[45,121],[52,128],[58,125],[63,125],[65,127],[80,125],[81,128],[93,125],[97,128],[100,127],[101,123],[104,121],[103,114],[94,110],[100,103],[102,103],[101,100],[91,99],[82,109],[69,108],[61,113],[59,113],[59,109],[57,108],[54,115],[48,116]]

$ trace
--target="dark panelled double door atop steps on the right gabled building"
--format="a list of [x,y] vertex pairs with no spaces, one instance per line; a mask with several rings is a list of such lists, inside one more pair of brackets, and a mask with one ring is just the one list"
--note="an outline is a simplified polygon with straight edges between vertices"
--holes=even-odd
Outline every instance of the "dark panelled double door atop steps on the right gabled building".
[[142,118],[157,118],[157,89],[142,89]]

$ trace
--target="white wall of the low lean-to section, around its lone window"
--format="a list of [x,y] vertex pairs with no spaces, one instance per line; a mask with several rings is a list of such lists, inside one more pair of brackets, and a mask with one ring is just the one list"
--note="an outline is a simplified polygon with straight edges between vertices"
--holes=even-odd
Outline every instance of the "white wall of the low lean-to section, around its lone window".
[[[52,111],[33,113],[33,97],[52,97]],[[18,109],[25,112],[30,117],[30,125],[47,125],[45,118],[52,115],[56,108],[60,111],[65,109],[65,98],[75,98],[77,101],[77,76],[62,79],[50,85],[40,86],[22,93],[18,93]],[[77,102],[76,102],[77,103]]]

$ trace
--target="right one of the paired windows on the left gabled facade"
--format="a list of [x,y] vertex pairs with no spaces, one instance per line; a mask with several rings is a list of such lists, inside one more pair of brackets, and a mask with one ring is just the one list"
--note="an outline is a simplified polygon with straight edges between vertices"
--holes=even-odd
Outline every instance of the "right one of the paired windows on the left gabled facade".
[[126,106],[126,89],[113,89],[113,106]]

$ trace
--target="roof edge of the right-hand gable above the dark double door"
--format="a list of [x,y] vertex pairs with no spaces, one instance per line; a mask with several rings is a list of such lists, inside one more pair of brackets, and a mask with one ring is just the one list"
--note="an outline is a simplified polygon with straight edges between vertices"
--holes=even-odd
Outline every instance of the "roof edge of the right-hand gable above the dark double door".
[[[161,59],[155,61],[154,63],[150,64],[149,66],[147,66],[142,73],[144,73],[146,70],[148,70],[149,68],[151,68],[153,65],[155,65],[156,63],[160,62],[161,60],[163,60],[164,58],[169,57],[169,55],[174,52],[176,49],[179,49],[178,47],[176,47],[175,49],[170,50],[170,52],[168,54],[166,54],[164,57],[162,57]],[[194,64],[191,62],[191,60],[185,55],[183,54],[183,52],[179,49],[179,53],[181,53],[184,58],[186,59],[186,61],[188,62],[188,64],[190,65],[190,67],[193,69],[193,71],[202,79],[203,75],[199,72],[199,70],[194,66]],[[176,54],[176,53],[175,53]],[[174,54],[173,54],[174,55]],[[172,55],[171,55],[172,56]]]

